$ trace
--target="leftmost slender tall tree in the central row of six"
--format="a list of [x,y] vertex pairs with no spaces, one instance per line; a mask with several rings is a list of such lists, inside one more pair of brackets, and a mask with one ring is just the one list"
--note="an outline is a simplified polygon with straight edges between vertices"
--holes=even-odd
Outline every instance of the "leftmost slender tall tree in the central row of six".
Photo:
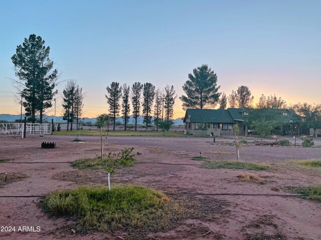
[[121,86],[119,86],[119,82],[113,81],[110,84],[110,87],[107,86],[107,95],[105,97],[107,98],[107,103],[109,104],[109,115],[113,120],[113,130],[115,130],[115,124],[116,124],[116,116],[118,116],[119,113],[119,98],[121,96]]

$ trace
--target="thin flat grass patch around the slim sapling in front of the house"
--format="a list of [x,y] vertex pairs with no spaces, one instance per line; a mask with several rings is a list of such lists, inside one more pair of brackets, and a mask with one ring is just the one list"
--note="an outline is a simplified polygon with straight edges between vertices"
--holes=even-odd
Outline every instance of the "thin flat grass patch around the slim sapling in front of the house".
[[246,162],[246,161],[208,161],[203,168],[217,169],[247,169],[247,170],[270,170],[270,165],[266,163]]

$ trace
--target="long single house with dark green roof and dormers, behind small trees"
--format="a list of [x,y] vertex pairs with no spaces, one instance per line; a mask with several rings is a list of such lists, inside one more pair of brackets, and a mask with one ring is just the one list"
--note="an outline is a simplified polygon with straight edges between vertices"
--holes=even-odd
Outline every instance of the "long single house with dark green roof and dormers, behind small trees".
[[[292,109],[268,109],[269,114],[277,119],[279,127],[273,134],[291,135],[299,133],[300,117]],[[238,124],[241,134],[255,134],[247,123],[249,114],[260,118],[266,109],[254,108],[227,108],[227,109],[187,109],[183,122],[185,131],[194,135],[232,135],[234,124]]]

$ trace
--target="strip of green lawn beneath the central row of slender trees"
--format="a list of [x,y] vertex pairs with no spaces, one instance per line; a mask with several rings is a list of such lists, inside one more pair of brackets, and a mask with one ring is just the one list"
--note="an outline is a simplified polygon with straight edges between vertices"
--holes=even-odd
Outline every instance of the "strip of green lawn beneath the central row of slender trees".
[[[80,131],[55,131],[54,135],[100,135],[100,131],[98,129],[94,130],[80,130]],[[107,135],[107,131],[103,130],[103,135]],[[124,130],[115,130],[109,131],[109,136],[163,136],[162,131],[124,131]],[[177,137],[188,137],[195,135],[186,135],[183,131],[166,131],[165,136],[177,136]]]

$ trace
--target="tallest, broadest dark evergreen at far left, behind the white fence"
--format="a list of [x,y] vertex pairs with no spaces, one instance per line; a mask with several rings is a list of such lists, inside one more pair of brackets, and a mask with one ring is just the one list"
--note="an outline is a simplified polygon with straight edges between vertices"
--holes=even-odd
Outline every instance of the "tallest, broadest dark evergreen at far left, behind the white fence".
[[22,45],[17,46],[16,54],[11,57],[16,76],[19,77],[15,85],[25,99],[23,105],[26,115],[33,123],[36,122],[37,113],[42,123],[44,110],[52,106],[51,101],[57,93],[54,88],[58,70],[53,69],[54,62],[49,58],[49,53],[50,47],[45,46],[41,36],[31,34]]

